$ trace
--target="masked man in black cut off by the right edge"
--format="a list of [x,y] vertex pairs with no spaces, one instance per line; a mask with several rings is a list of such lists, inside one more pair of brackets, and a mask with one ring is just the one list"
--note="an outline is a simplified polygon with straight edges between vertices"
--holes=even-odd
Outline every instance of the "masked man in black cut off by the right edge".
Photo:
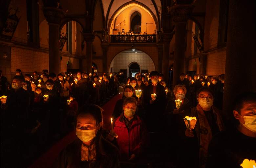
[[244,159],[256,160],[256,93],[238,95],[232,106],[230,129],[213,137],[206,168],[240,168]]

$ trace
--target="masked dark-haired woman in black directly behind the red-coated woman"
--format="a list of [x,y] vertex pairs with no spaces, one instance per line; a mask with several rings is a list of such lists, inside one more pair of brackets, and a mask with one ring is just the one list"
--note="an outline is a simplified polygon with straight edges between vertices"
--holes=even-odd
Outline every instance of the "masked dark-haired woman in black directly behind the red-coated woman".
[[122,99],[117,100],[114,111],[112,113],[113,118],[117,118],[123,112],[123,101],[124,101],[125,98],[127,98],[127,97],[136,97],[133,94],[133,92],[134,92],[134,89],[133,89],[132,86],[126,85],[124,87],[124,92],[123,92]]

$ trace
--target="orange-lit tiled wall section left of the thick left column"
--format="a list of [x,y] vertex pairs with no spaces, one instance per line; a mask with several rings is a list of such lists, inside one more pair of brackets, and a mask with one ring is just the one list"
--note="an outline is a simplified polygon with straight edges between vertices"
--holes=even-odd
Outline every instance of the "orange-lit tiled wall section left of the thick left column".
[[21,69],[22,72],[42,72],[49,69],[48,53],[11,47],[11,72]]

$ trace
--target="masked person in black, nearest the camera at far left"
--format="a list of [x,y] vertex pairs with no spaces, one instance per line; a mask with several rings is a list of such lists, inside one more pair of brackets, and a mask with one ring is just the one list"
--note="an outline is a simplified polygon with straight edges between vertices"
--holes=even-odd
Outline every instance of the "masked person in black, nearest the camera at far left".
[[[11,90],[8,90],[5,115],[1,115],[1,167],[20,167],[24,165],[24,153],[28,150],[27,121],[30,107],[30,93],[23,89],[23,76],[14,76]],[[13,152],[19,157],[10,162]]]

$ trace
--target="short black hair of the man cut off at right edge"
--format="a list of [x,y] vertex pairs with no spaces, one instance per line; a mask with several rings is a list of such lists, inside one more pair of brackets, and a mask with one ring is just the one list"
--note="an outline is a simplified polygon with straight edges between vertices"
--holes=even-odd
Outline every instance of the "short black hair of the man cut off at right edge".
[[244,92],[239,94],[233,102],[233,110],[241,113],[245,102],[256,102],[256,92]]

